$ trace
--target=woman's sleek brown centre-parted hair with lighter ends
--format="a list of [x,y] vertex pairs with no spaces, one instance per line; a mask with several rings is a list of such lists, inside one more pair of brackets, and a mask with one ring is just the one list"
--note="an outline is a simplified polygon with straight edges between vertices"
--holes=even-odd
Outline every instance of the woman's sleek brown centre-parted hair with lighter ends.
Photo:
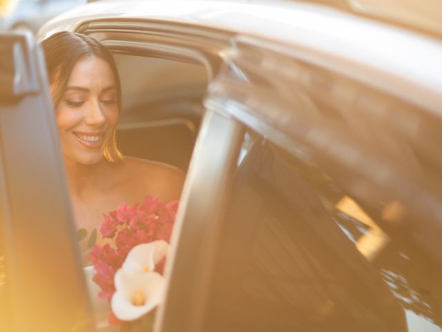
[[[122,109],[122,91],[119,82],[117,66],[111,53],[102,44],[90,36],[81,33],[70,33],[62,31],[55,33],[41,42],[46,58],[46,68],[48,69],[49,82],[54,84],[52,91],[52,102],[56,108],[66,91],[70,74],[75,64],[81,57],[95,56],[104,59],[113,71],[115,85],[117,86],[118,109]],[[122,160],[122,154],[117,148],[115,140],[115,130],[111,139],[104,146],[103,156],[108,161],[115,162]]]

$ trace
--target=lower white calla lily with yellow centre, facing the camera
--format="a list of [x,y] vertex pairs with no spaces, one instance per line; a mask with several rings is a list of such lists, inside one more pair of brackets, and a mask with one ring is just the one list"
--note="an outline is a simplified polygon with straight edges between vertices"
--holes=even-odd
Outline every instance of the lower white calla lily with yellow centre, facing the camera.
[[119,320],[136,320],[162,301],[165,280],[159,273],[134,274],[121,268],[114,280],[111,308]]

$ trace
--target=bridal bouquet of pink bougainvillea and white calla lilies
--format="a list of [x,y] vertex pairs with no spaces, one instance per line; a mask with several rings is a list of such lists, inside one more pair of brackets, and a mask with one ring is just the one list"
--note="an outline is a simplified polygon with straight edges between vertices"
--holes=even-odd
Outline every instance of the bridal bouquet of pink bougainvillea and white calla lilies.
[[142,203],[122,204],[104,214],[99,230],[108,243],[93,246],[90,259],[99,297],[111,304],[110,324],[148,317],[160,303],[177,205],[146,196]]

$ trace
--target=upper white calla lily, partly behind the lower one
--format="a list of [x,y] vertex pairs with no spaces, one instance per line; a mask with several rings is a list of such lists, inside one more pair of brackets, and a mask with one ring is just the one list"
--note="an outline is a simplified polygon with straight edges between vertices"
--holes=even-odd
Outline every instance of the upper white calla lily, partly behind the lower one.
[[169,254],[169,244],[164,240],[138,244],[128,253],[122,266],[128,273],[146,273],[155,270],[155,265]]

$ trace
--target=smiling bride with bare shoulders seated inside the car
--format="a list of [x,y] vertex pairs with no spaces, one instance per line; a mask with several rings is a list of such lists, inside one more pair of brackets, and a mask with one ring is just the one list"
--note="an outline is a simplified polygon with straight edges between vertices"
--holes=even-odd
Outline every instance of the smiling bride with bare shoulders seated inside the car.
[[[122,203],[141,202],[147,194],[163,203],[179,199],[184,172],[122,156],[117,149],[115,127],[122,99],[119,75],[108,50],[92,37],[70,32],[56,33],[41,46],[77,228],[91,234],[99,230],[104,213]],[[103,246],[106,241],[97,232],[96,244]],[[88,249],[87,241],[83,242],[81,252]],[[85,273],[95,315],[102,315],[96,321],[106,322],[109,308],[97,296],[92,266]]]

